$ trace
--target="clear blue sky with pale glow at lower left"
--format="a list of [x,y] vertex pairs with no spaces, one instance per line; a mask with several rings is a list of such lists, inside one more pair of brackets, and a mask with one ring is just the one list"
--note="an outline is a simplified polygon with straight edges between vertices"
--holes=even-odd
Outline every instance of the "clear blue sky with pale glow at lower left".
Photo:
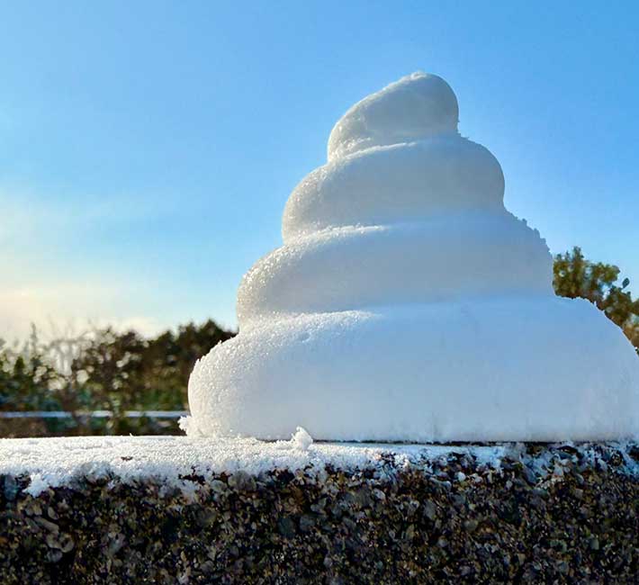
[[416,69],[556,253],[639,290],[636,3],[4,4],[0,337],[235,326],[335,121]]

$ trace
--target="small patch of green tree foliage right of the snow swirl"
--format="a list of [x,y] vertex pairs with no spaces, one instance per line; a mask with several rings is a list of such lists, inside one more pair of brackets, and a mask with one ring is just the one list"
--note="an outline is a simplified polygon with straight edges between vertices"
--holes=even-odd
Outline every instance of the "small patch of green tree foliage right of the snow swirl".
[[633,300],[625,278],[617,284],[619,268],[602,262],[590,262],[580,247],[554,258],[554,291],[572,299],[593,302],[617,323],[639,353],[639,299]]

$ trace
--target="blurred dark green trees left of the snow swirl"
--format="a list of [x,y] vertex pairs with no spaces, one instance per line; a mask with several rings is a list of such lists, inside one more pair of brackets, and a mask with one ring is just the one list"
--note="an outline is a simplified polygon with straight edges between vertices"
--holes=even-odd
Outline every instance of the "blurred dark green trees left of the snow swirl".
[[[127,419],[125,411],[185,410],[195,360],[233,335],[212,320],[151,339],[106,328],[42,343],[34,329],[23,347],[0,345],[0,410],[66,410],[70,426],[45,423],[47,431],[66,434],[159,432],[157,421]],[[112,417],[87,418],[93,410]]]

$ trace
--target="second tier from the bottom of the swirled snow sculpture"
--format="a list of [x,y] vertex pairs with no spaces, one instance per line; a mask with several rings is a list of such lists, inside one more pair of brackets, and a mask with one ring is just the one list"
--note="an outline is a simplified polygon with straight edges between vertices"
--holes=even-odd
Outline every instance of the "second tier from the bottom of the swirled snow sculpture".
[[547,296],[552,274],[539,235],[506,211],[325,229],[296,238],[251,268],[239,288],[238,318],[246,326],[273,320],[274,312]]

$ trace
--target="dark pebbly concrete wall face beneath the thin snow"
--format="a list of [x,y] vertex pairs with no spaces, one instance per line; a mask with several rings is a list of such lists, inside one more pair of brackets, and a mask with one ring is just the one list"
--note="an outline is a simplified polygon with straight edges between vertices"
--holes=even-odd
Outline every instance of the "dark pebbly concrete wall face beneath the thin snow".
[[[187,499],[152,480],[0,478],[0,574],[26,583],[637,583],[636,446],[571,447],[537,476],[449,456],[432,470],[218,474]],[[545,455],[545,454],[542,454]]]

